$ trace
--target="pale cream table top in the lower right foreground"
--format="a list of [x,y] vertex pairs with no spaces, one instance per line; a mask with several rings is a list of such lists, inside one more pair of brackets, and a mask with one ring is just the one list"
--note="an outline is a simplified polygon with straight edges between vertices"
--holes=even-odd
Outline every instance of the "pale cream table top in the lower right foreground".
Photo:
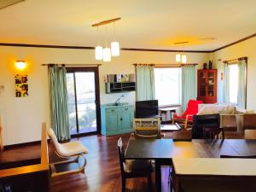
[[177,175],[256,176],[256,159],[173,158]]

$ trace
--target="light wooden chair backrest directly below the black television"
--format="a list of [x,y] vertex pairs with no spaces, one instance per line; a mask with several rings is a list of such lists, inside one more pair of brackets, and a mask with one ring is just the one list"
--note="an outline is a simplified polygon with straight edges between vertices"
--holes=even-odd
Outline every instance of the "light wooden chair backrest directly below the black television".
[[160,119],[133,119],[134,136],[136,138],[161,138]]

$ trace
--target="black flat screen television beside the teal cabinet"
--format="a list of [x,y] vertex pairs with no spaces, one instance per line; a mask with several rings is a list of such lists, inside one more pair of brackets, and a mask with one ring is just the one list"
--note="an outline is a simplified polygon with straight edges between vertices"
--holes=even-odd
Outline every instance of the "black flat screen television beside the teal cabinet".
[[158,116],[158,100],[136,102],[136,118],[154,118]]

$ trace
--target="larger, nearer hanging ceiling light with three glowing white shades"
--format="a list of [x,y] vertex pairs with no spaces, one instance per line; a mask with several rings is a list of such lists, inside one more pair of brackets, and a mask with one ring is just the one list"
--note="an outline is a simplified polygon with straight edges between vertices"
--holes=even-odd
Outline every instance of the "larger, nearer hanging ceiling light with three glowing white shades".
[[114,22],[120,20],[121,18],[115,18],[112,20],[104,20],[102,22],[93,24],[92,26],[104,26],[110,23],[113,23],[113,42],[111,42],[111,49],[108,48],[108,40],[107,40],[107,28],[105,27],[105,44],[106,47],[103,48],[99,45],[99,42],[95,48],[96,60],[103,60],[103,61],[111,61],[111,56],[119,56],[120,49],[119,49],[119,42],[115,41],[115,26]]

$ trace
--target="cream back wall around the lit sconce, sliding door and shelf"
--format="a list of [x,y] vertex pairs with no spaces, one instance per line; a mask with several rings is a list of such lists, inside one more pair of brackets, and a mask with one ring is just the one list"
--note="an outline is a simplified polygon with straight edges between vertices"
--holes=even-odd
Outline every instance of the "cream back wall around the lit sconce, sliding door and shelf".
[[[189,53],[188,61],[202,64],[208,61],[208,54]],[[100,67],[101,103],[115,102],[125,95],[122,102],[135,102],[135,91],[121,94],[105,94],[103,76],[108,73],[135,73],[133,63],[175,63],[175,53],[121,51],[112,62],[102,62]],[[25,60],[28,64],[29,96],[15,98],[15,61]],[[45,49],[0,47],[0,112],[3,115],[4,145],[38,141],[41,137],[41,123],[49,126],[49,91],[47,67],[42,63],[96,64],[93,50]],[[168,89],[168,88],[166,88]],[[172,89],[172,88],[169,88]]]

